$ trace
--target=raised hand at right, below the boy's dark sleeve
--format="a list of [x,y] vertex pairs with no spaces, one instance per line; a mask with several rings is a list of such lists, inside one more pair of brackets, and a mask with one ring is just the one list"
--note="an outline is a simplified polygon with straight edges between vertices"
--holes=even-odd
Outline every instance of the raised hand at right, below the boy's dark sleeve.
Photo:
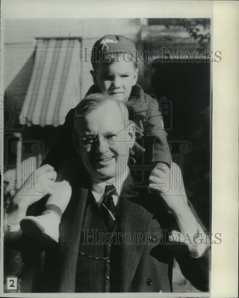
[[187,202],[183,177],[180,167],[172,162],[169,168],[165,163],[158,163],[149,177],[149,192],[156,191],[170,211],[180,209]]

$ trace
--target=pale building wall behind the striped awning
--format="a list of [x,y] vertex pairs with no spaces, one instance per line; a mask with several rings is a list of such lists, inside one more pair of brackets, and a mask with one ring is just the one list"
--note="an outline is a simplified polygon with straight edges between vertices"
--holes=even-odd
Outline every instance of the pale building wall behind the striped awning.
[[[4,88],[34,52],[35,37],[81,37],[82,47],[91,49],[106,34],[124,35],[137,42],[140,31],[140,19],[7,19],[4,21]],[[91,63],[82,63],[82,96],[92,83],[90,69]]]

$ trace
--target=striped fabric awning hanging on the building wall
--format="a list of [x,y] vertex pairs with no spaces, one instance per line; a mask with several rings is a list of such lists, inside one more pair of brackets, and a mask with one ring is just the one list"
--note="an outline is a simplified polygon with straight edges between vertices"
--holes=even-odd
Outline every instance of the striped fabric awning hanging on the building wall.
[[[81,40],[37,38],[32,77],[21,111],[24,124],[62,125],[80,100]],[[22,123],[23,124],[23,123]]]

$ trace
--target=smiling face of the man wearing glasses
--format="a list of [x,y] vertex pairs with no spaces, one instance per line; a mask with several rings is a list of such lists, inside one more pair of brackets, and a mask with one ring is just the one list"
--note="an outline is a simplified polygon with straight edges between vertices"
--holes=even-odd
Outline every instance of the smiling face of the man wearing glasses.
[[131,137],[134,123],[125,130],[124,115],[120,108],[116,103],[107,101],[84,119],[76,120],[76,126],[76,149],[89,174],[98,180],[115,177],[117,159],[123,159],[124,164],[127,164],[126,145],[134,140]]

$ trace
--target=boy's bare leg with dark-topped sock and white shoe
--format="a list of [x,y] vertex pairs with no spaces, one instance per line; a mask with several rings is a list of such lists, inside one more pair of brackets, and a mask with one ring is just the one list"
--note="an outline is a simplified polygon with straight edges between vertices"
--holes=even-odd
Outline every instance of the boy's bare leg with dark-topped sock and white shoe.
[[71,186],[66,180],[56,182],[56,188],[40,216],[26,216],[20,222],[22,231],[44,245],[58,242],[59,224],[71,197]]

